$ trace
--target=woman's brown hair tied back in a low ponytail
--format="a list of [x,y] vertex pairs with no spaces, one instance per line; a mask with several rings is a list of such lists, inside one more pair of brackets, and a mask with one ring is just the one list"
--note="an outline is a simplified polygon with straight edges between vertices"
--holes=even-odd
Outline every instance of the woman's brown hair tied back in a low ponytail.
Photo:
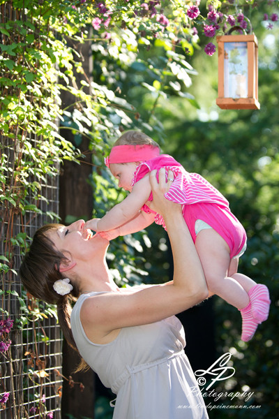
[[[46,233],[52,228],[59,228],[59,226],[61,224],[46,224],[36,231],[30,249],[22,260],[20,279],[24,288],[33,297],[50,304],[57,304],[57,316],[63,335],[68,344],[78,352],[70,328],[70,314],[72,312],[72,303],[80,295],[80,291],[73,282],[71,283],[73,290],[66,295],[57,294],[53,288],[55,281],[63,279],[63,275],[59,272],[59,266],[67,258],[61,251],[55,249],[54,243],[47,237]],[[75,371],[86,369],[86,367],[88,367],[86,362],[82,360]]]

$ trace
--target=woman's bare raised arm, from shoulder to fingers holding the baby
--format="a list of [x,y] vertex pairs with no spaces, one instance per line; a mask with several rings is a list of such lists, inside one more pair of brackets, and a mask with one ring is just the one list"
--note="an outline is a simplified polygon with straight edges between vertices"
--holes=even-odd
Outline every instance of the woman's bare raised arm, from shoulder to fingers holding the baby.
[[163,215],[172,245],[173,281],[136,292],[132,288],[126,293],[105,293],[87,298],[81,311],[86,332],[98,330],[99,335],[106,336],[119,328],[160,321],[193,307],[208,295],[202,265],[183,219],[181,205],[164,197],[167,191],[165,170],[160,170],[159,184],[151,173],[151,185],[153,207]]

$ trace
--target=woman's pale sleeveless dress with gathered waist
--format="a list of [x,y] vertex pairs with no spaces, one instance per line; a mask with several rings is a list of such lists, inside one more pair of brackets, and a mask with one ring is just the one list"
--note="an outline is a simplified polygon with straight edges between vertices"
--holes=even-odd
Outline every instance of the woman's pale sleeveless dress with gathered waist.
[[206,419],[199,385],[184,353],[183,326],[176,316],[122,328],[109,344],[94,344],[82,328],[82,294],[70,324],[82,358],[116,397],[113,419]]

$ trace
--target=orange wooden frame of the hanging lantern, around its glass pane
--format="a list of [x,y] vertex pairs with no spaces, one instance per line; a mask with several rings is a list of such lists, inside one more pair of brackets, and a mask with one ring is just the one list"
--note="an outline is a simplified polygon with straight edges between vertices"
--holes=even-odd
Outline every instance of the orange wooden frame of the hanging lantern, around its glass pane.
[[[259,109],[258,101],[258,69],[257,69],[257,38],[254,34],[249,35],[223,35],[217,36],[218,43],[218,98],[216,104],[221,109]],[[225,91],[225,66],[226,51],[225,43],[247,44],[247,91],[245,97],[227,97]],[[226,96],[225,96],[226,95]]]

